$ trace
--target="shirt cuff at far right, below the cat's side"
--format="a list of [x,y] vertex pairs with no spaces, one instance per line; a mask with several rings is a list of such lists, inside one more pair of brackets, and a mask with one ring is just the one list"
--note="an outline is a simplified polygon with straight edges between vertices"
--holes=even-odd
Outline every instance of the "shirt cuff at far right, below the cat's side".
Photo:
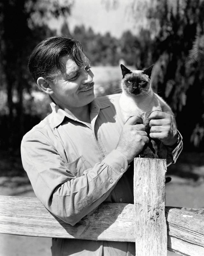
[[171,164],[175,164],[178,159],[182,149],[183,149],[183,141],[180,132],[178,131],[178,139],[173,147],[167,147],[167,167]]

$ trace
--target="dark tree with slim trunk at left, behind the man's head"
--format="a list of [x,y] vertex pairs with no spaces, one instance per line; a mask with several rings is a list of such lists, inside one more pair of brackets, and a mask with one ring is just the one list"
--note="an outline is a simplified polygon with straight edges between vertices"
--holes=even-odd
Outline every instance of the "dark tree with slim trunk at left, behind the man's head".
[[[27,71],[29,55],[37,43],[54,35],[46,20],[70,14],[71,4],[68,1],[63,3],[55,0],[9,0],[0,3],[0,73],[3,78],[0,86],[7,92],[10,148],[13,147],[15,135],[21,138],[24,133],[23,91],[30,87]],[[14,131],[14,119],[17,117],[19,127]]]

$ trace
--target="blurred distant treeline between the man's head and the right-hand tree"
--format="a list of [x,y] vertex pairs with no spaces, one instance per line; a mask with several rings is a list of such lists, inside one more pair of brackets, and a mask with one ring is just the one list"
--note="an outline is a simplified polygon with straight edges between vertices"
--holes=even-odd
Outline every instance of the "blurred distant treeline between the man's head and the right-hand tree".
[[[70,35],[66,21],[62,24],[61,33]],[[116,39],[109,32],[105,35],[96,34],[92,28],[86,29],[81,25],[74,28],[71,36],[83,44],[84,51],[94,66],[118,66],[120,60],[138,69],[151,65],[151,39],[150,32],[146,29],[141,29],[139,36],[125,31]]]

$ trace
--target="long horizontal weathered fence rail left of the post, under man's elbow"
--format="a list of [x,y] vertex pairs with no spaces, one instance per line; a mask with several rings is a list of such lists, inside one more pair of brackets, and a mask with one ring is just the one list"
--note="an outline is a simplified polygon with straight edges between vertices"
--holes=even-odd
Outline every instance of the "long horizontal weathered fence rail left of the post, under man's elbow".
[[129,218],[129,210],[129,204],[101,204],[72,227],[37,198],[0,196],[0,233],[134,242],[134,216]]

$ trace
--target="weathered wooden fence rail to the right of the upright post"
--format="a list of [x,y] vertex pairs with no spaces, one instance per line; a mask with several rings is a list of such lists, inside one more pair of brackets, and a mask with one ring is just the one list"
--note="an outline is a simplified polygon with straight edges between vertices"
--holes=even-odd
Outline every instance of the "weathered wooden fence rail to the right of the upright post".
[[166,207],[166,220],[169,251],[204,255],[204,209]]

